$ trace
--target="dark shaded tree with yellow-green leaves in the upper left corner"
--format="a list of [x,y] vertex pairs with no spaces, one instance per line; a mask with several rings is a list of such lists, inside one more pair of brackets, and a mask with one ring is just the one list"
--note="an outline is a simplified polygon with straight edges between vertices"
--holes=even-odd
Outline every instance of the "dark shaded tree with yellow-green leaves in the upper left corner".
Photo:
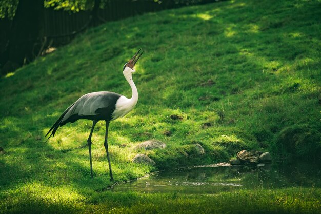
[[42,31],[44,8],[64,9],[70,12],[91,10],[88,26],[98,23],[101,0],[0,0],[0,71],[14,71],[32,61],[43,51]]

